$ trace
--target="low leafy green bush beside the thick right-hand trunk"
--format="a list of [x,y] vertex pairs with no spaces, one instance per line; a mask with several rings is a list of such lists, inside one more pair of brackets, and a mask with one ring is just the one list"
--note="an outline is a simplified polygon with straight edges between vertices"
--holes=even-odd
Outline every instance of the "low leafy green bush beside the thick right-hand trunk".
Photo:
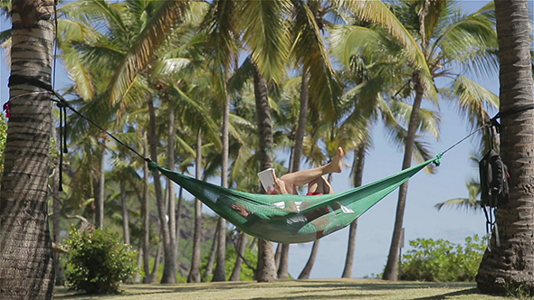
[[412,249],[403,255],[401,280],[474,281],[487,239],[478,235],[455,245],[444,239],[410,240]]

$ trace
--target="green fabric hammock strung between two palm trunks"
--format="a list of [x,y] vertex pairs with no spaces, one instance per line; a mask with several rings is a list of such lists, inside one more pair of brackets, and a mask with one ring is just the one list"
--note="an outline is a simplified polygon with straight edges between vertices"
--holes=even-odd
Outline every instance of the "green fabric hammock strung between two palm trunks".
[[[239,230],[260,239],[289,244],[319,239],[348,226],[427,164],[438,165],[440,157],[441,154],[347,192],[314,196],[240,192],[169,171],[154,162],[149,166],[182,186]],[[234,204],[242,205],[250,214],[243,217],[234,211]]]

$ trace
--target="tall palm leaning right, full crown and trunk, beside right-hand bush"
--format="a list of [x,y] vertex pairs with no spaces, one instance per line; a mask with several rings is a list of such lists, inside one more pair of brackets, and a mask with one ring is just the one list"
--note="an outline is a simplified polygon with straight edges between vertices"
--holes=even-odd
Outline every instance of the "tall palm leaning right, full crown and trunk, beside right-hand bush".
[[[462,72],[453,69],[465,61],[474,61],[472,64],[467,62],[472,70],[482,73],[495,70],[495,60],[491,52],[491,49],[495,48],[495,35],[491,25],[491,14],[486,14],[486,10],[488,7],[471,15],[457,14],[458,10],[453,2],[449,1],[401,1],[392,5],[392,11],[398,20],[404,23],[404,26],[397,28],[402,29],[400,32],[411,35],[409,41],[418,41],[416,48],[421,49],[424,54],[423,58],[416,55],[406,58],[408,68],[405,71],[409,72],[406,75],[411,78],[413,88],[406,89],[405,86],[399,92],[405,96],[411,94],[414,100],[405,136],[403,169],[411,165],[422,100],[435,99],[433,91],[435,79],[451,80],[451,86],[448,89],[440,89],[439,92],[447,98],[458,99],[460,109],[470,117],[473,125],[481,126],[486,119],[484,105],[496,103],[496,98],[491,97],[489,91],[465,79],[460,75]],[[393,32],[391,28],[393,27],[388,27],[389,32]],[[397,276],[398,248],[406,192],[407,183],[399,190],[395,229],[384,272],[385,279],[395,280]]]

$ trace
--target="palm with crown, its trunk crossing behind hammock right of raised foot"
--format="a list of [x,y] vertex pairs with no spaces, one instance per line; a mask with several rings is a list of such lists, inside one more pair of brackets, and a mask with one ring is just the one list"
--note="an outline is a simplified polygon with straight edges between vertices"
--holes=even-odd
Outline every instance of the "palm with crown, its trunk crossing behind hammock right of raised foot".
[[[339,127],[342,135],[352,136],[357,144],[351,178],[355,186],[361,184],[363,165],[367,149],[372,146],[371,134],[374,125],[382,121],[395,137],[398,145],[405,144],[405,128],[411,108],[409,105],[395,99],[397,86],[405,82],[402,76],[385,77],[383,74],[402,74],[402,62],[386,54],[392,52],[390,42],[377,38],[374,41],[374,31],[361,27],[366,25],[358,20],[346,18],[348,25],[338,25],[330,30],[330,44],[332,53],[342,62],[344,69],[340,70],[340,77],[348,87],[343,96],[347,117]],[[364,44],[364,47],[354,45]],[[377,51],[377,49],[383,49]],[[382,54],[385,53],[385,54]],[[400,69],[399,69],[400,67]],[[437,123],[439,118],[432,111],[422,109],[419,127],[437,138]],[[358,138],[357,138],[358,137]],[[358,145],[359,143],[359,145]],[[415,158],[424,161],[430,158],[430,153],[424,148],[424,143],[415,143]],[[351,224],[348,239],[348,252],[342,277],[352,276],[356,228],[358,222]]]

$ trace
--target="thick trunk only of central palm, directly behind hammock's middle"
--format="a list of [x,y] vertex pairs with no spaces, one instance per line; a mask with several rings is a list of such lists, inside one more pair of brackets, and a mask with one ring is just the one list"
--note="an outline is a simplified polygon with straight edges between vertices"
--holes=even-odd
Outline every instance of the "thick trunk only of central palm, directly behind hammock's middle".
[[[269,94],[267,82],[262,78],[257,67],[253,68],[254,97],[256,99],[256,117],[259,131],[259,158],[260,169],[272,168],[272,119],[271,107],[269,106]],[[272,242],[260,239],[258,243],[258,267],[256,280],[259,282],[271,282],[276,279],[276,267]]]

